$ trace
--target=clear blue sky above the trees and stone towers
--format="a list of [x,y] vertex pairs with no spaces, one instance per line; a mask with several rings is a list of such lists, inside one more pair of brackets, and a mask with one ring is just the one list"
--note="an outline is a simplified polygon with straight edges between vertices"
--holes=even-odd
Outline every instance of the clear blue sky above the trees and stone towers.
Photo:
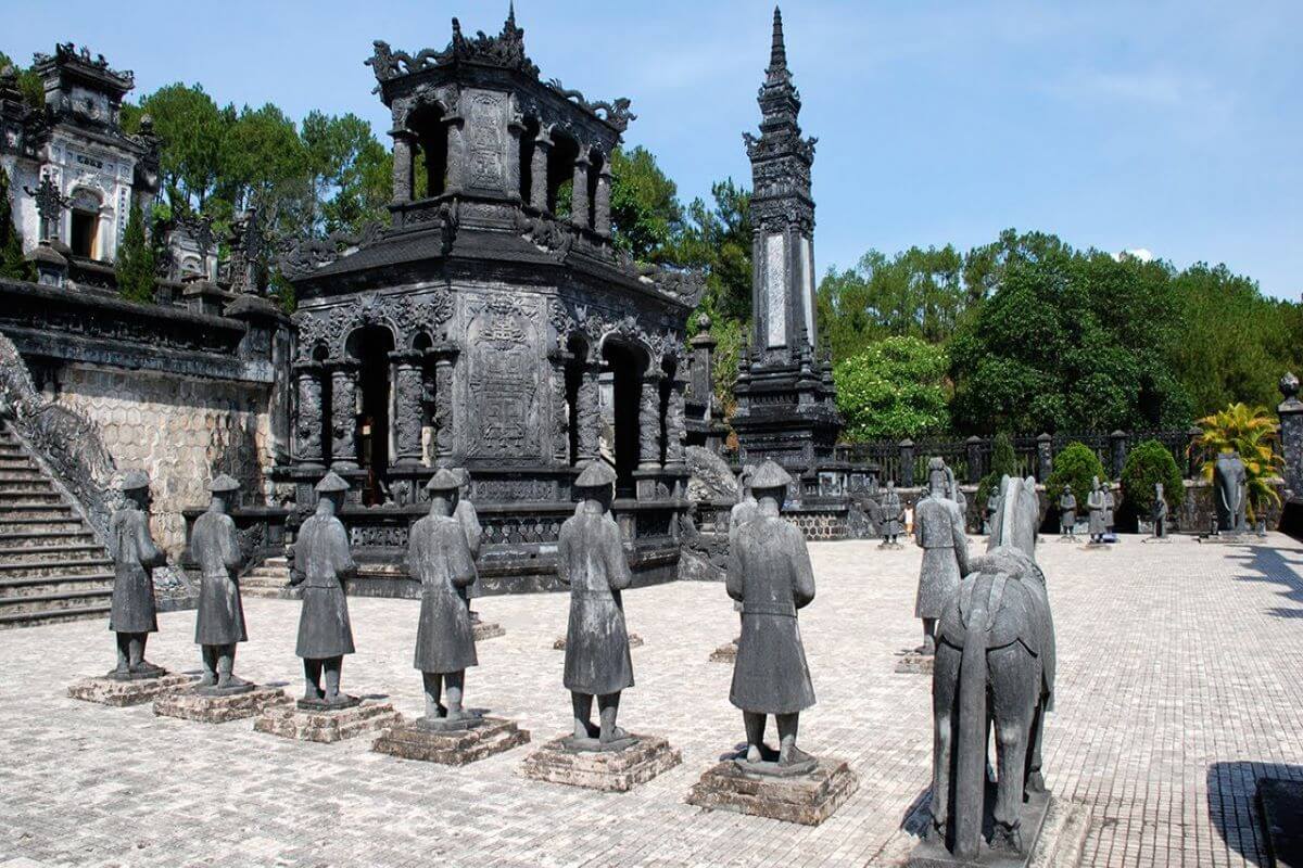
[[[519,0],[543,77],[624,95],[687,200],[749,183],[765,0]],[[496,33],[506,0],[280,3],[0,0],[0,51],[86,43],[138,92],[202,82],[219,102],[294,117],[387,115],[362,65],[373,39],[444,47],[450,17]],[[1225,262],[1303,293],[1303,3],[795,1],[787,51],[820,139],[816,260],[960,249],[1007,226],[1178,267]]]

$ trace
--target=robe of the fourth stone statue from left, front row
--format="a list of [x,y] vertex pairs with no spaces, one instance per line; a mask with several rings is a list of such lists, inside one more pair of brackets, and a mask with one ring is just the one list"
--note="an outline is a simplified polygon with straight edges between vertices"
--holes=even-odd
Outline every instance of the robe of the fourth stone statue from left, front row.
[[480,664],[465,593],[476,565],[461,522],[426,515],[408,536],[407,569],[421,582],[421,621],[413,666],[421,671],[461,671]]

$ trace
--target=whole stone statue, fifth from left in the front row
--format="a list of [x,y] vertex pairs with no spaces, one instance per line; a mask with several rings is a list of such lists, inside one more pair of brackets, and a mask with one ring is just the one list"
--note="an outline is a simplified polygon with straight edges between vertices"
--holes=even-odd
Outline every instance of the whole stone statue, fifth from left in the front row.
[[[580,509],[562,524],[556,541],[556,574],[571,590],[566,630],[564,685],[575,712],[575,743],[620,743],[627,733],[616,726],[620,691],[633,686],[629,634],[620,592],[633,574],[624,557],[620,527],[611,521],[615,471],[590,461],[575,480]],[[601,726],[592,724],[597,698]]]

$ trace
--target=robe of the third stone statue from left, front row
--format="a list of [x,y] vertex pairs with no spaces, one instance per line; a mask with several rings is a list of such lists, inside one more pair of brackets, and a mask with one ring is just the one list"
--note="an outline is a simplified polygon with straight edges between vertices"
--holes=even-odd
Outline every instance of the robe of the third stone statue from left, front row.
[[353,626],[343,574],[353,569],[348,531],[334,515],[304,519],[294,543],[294,570],[301,573],[304,608],[298,616],[298,644],[304,660],[328,660],[353,653]]

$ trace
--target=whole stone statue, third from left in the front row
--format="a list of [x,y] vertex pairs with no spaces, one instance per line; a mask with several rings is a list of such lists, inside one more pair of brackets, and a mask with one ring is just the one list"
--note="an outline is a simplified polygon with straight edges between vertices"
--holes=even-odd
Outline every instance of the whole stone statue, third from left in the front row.
[[[317,483],[317,511],[304,519],[294,541],[289,580],[304,586],[294,653],[304,660],[306,686],[300,705],[305,708],[347,708],[358,701],[339,692],[344,655],[354,652],[343,586],[343,576],[353,570],[353,556],[348,531],[336,517],[347,491],[347,481],[334,471],[327,472]],[[326,673],[324,691],[322,670]]]

